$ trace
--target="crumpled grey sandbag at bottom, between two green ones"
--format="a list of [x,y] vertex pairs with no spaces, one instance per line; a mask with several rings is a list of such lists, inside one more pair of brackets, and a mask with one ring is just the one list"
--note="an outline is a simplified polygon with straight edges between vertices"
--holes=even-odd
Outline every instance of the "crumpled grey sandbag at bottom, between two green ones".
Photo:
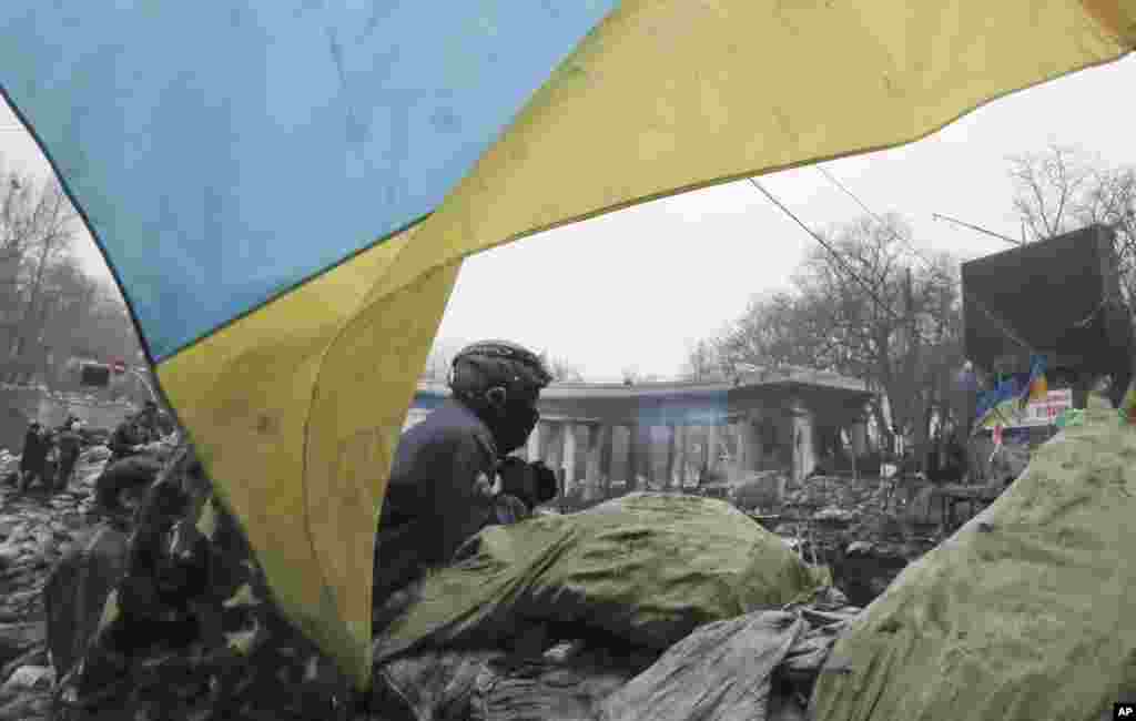
[[808,630],[765,611],[704,626],[602,705],[602,721],[767,721],[774,671]]

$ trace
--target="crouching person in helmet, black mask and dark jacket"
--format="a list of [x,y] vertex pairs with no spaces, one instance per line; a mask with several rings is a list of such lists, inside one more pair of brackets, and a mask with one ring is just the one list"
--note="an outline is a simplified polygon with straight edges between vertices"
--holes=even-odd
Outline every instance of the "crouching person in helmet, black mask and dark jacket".
[[[536,402],[550,382],[543,362],[512,343],[476,343],[458,354],[452,397],[407,430],[395,452],[375,551],[377,604],[448,563],[485,526],[517,520],[556,496],[551,470],[504,461],[536,426]],[[502,494],[506,479],[517,495]]]

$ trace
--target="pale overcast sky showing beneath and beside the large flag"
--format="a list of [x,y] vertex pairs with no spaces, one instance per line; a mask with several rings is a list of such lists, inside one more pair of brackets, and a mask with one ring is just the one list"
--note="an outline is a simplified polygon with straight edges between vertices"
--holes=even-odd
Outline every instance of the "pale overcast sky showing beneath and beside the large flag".
[[[1004,242],[932,213],[1018,237],[1006,156],[1055,142],[1136,165],[1133,89],[1136,57],[1016,93],[919,143],[825,167],[876,213],[903,215],[926,249],[963,259],[997,252]],[[2,103],[0,166],[49,171]],[[862,212],[816,168],[763,182],[811,227]],[[659,200],[468,259],[438,338],[513,339],[590,379],[618,379],[627,367],[673,376],[688,344],[736,318],[753,294],[785,287],[815,243],[747,183]],[[78,252],[108,275],[90,237]]]

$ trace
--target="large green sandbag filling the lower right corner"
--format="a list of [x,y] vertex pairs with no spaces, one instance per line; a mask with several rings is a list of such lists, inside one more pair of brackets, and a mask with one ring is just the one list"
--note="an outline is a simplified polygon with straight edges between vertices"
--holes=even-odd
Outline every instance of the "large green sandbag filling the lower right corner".
[[[817,721],[1102,718],[1136,690],[1136,429],[1089,409],[841,636]],[[1108,718],[1108,716],[1105,716]]]

